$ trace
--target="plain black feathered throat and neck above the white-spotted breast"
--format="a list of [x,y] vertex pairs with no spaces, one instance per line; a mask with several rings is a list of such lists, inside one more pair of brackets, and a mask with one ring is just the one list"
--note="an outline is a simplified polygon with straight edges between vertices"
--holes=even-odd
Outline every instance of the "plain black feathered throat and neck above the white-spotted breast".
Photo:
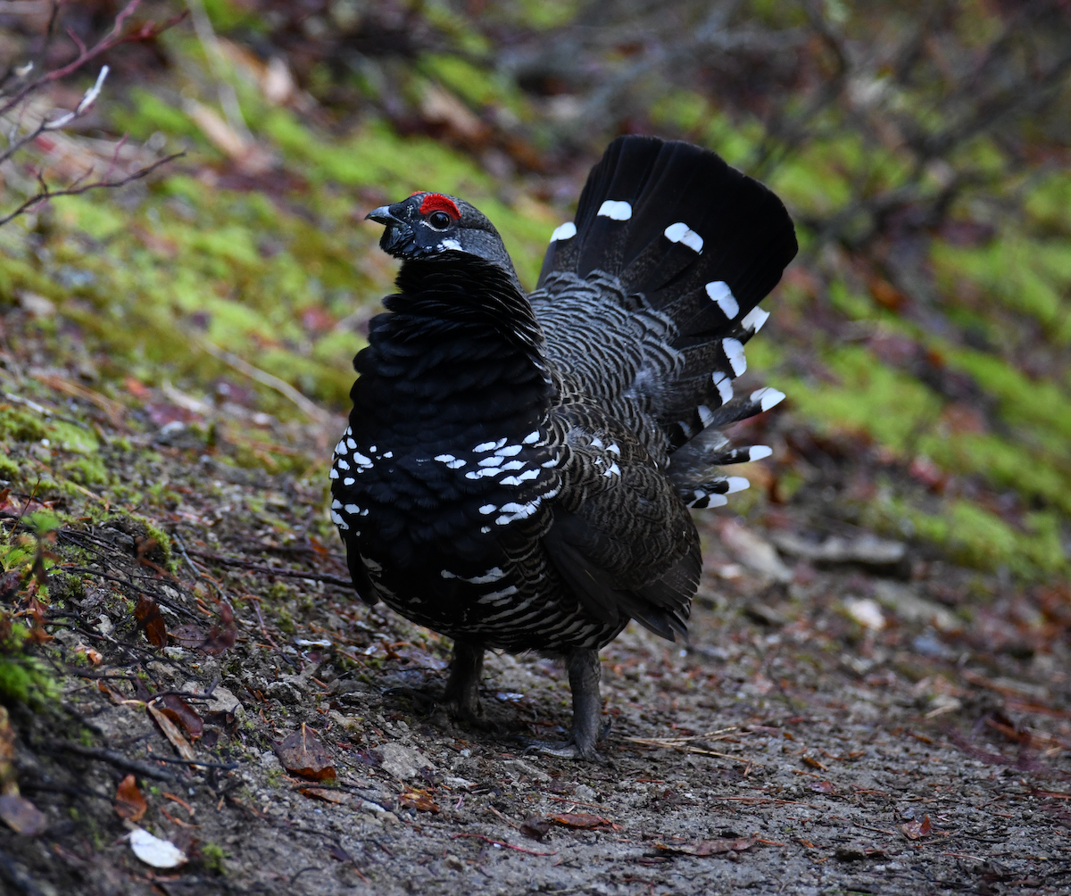
[[554,396],[512,272],[464,253],[406,261],[353,366],[355,434],[413,444],[538,428]]

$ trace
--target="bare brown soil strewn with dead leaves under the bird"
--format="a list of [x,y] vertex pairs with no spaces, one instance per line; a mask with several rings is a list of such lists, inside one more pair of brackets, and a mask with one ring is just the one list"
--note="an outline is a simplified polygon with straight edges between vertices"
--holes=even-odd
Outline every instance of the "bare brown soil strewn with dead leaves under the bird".
[[[690,641],[630,627],[607,647],[604,762],[562,760],[524,740],[568,728],[560,666],[489,653],[486,728],[455,724],[436,705],[449,642],[352,597],[317,534],[318,474],[238,470],[167,436],[147,425],[108,455],[163,503],[46,501],[67,514],[37,607],[63,695],[12,708],[47,830],[0,829],[4,892],[1071,892],[1066,589],[875,548],[831,521],[820,481],[749,519],[705,512]],[[7,499],[12,537],[28,497]],[[815,532],[847,549],[788,537]],[[172,726],[193,762],[147,711],[167,690],[195,711]],[[292,771],[319,768],[302,736],[334,777]],[[138,826],[181,867],[132,851],[131,773]]]

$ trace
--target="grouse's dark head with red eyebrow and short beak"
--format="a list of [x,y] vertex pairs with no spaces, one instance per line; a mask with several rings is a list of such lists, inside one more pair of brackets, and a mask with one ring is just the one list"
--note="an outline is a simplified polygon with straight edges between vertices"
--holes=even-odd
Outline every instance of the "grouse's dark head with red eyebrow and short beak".
[[442,193],[414,193],[393,206],[380,206],[365,216],[387,229],[379,247],[403,261],[477,256],[513,271],[513,262],[495,226],[464,199]]

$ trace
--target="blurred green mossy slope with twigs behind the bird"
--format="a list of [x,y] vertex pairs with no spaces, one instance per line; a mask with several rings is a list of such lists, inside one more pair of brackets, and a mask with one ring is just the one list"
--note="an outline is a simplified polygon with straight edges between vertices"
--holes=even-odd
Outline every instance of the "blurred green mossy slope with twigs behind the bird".
[[[147,3],[136,18],[181,9]],[[117,10],[72,2],[63,25],[89,42]],[[230,352],[344,413],[350,360],[392,279],[367,209],[421,188],[464,196],[532,286],[608,139],[683,138],[766,180],[798,223],[801,255],[767,300],[774,314],[749,347],[749,377],[788,394],[788,428],[840,440],[870,465],[873,488],[845,489],[845,518],[967,565],[1067,575],[1066,4],[190,10],[159,39],[109,51],[95,112],[66,142],[35,150],[56,179],[107,160],[124,134],[132,164],[185,156],[121,193],[57,199],[0,228],[0,314],[9,338],[15,316],[30,320],[41,370],[126,405],[148,408],[148,390],[166,388],[195,409],[218,406],[222,390],[304,423],[277,389],[236,374]],[[5,63],[37,51],[46,19],[0,14]],[[58,64],[71,48],[56,41],[48,52]],[[57,88],[55,102],[94,75]],[[10,163],[0,174],[5,207],[33,188]],[[9,365],[5,388],[27,374]],[[89,434],[0,410],[4,439],[41,439],[43,426],[80,454],[72,482],[107,481]],[[259,444],[258,431],[232,427],[235,462],[313,469],[276,451],[277,438]],[[774,500],[812,475],[795,444],[778,444]]]

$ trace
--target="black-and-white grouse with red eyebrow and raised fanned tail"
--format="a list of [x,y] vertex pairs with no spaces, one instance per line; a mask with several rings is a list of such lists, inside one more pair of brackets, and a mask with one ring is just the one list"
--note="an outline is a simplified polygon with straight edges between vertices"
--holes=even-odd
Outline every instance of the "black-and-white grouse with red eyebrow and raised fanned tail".
[[369,212],[397,292],[353,360],[331,518],[358,596],[453,640],[442,697],[479,723],[484,652],[563,659],[573,717],[553,755],[598,760],[599,650],[631,620],[687,636],[702,572],[692,508],[770,454],[722,429],[758,303],[797,252],[765,185],[714,152],[627,135],[591,169],[533,291],[466,200]]

